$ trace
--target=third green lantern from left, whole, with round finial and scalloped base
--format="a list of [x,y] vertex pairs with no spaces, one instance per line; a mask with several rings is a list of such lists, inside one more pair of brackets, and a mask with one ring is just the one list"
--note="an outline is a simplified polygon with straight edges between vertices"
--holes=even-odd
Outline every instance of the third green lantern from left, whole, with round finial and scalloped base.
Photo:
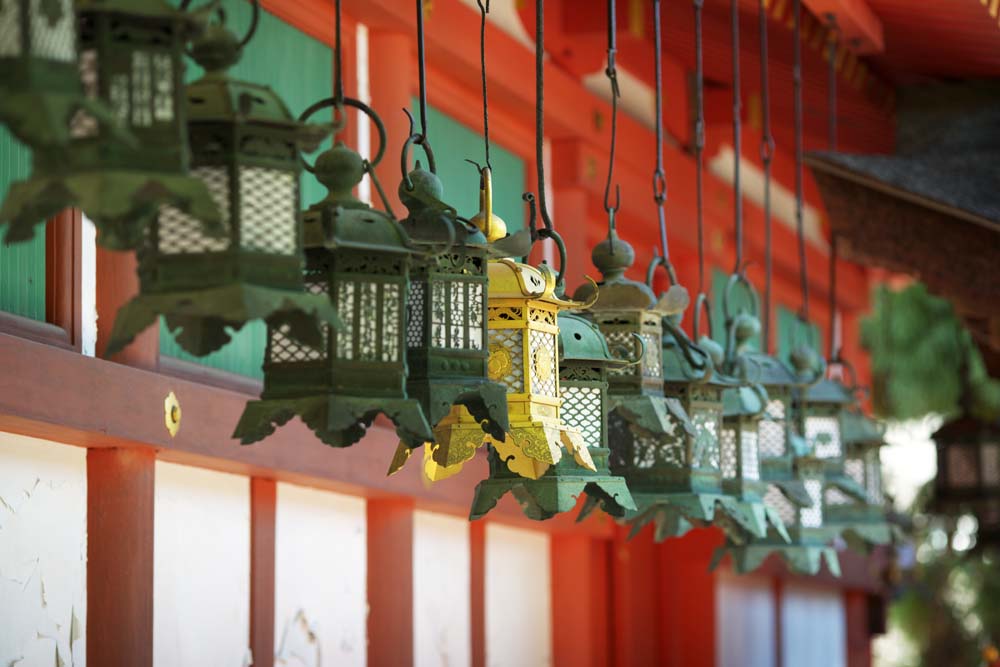
[[187,87],[192,173],[223,212],[226,234],[207,236],[192,215],[160,210],[138,253],[139,296],[118,312],[109,355],[160,315],[198,356],[251,320],[309,344],[320,342],[317,318],[338,323],[323,294],[303,289],[298,210],[299,150],[315,149],[329,126],[298,122],[267,86],[231,79],[225,70],[243,43],[209,28],[193,49],[206,74]]

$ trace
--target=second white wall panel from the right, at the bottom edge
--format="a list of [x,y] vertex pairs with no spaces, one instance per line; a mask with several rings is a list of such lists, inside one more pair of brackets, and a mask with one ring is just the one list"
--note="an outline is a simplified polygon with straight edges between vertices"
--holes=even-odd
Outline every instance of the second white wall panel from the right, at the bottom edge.
[[771,580],[720,574],[715,596],[719,667],[775,667],[775,609]]

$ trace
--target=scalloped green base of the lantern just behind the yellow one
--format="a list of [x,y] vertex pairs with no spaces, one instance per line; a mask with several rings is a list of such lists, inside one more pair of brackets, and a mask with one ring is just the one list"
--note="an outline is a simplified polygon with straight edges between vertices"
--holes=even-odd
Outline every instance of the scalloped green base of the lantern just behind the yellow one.
[[[594,455],[600,457],[600,450],[596,450]],[[604,455],[607,455],[606,450]],[[498,455],[491,451],[490,456]],[[503,463],[499,462],[499,465]],[[524,515],[535,521],[545,521],[572,510],[582,494],[586,494],[588,504],[600,506],[613,517],[624,517],[636,508],[625,480],[608,474],[606,467],[603,473],[589,472],[564,459],[539,479],[493,477],[492,473],[493,470],[490,479],[476,486],[469,512],[471,521],[486,516],[508,491],[514,494]]]

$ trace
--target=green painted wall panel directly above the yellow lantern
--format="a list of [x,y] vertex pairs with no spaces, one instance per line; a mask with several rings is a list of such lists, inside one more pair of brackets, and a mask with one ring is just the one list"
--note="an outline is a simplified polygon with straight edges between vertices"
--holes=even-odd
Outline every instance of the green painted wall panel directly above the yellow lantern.
[[[413,101],[413,115],[417,118],[419,127],[420,112],[416,100]],[[445,187],[444,200],[457,208],[461,215],[471,217],[479,210],[479,174],[465,160],[468,158],[480,164],[484,162],[483,135],[433,107],[428,107],[427,119],[430,122],[428,134],[434,149],[438,177]],[[413,155],[427,166],[419,148]],[[383,164],[388,162],[386,160]],[[493,163],[493,210],[507,223],[509,232],[523,229],[528,211],[527,205],[521,201],[524,193],[524,160],[494,142],[490,144],[490,162]],[[387,188],[396,187],[394,179],[398,176],[389,176],[387,172],[383,178],[386,179]],[[389,182],[392,183],[391,186],[388,185]]]

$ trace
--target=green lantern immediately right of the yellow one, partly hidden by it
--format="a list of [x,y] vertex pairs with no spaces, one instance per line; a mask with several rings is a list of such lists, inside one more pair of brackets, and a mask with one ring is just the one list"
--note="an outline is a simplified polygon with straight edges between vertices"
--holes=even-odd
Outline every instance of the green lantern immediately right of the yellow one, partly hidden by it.
[[608,349],[601,330],[574,313],[559,315],[560,416],[587,443],[594,470],[563,457],[538,479],[511,472],[495,451],[491,452],[490,477],[476,488],[473,519],[484,516],[508,491],[531,519],[549,519],[576,507],[582,494],[589,505],[624,518],[636,506],[625,479],[608,467],[608,371],[623,363]]

